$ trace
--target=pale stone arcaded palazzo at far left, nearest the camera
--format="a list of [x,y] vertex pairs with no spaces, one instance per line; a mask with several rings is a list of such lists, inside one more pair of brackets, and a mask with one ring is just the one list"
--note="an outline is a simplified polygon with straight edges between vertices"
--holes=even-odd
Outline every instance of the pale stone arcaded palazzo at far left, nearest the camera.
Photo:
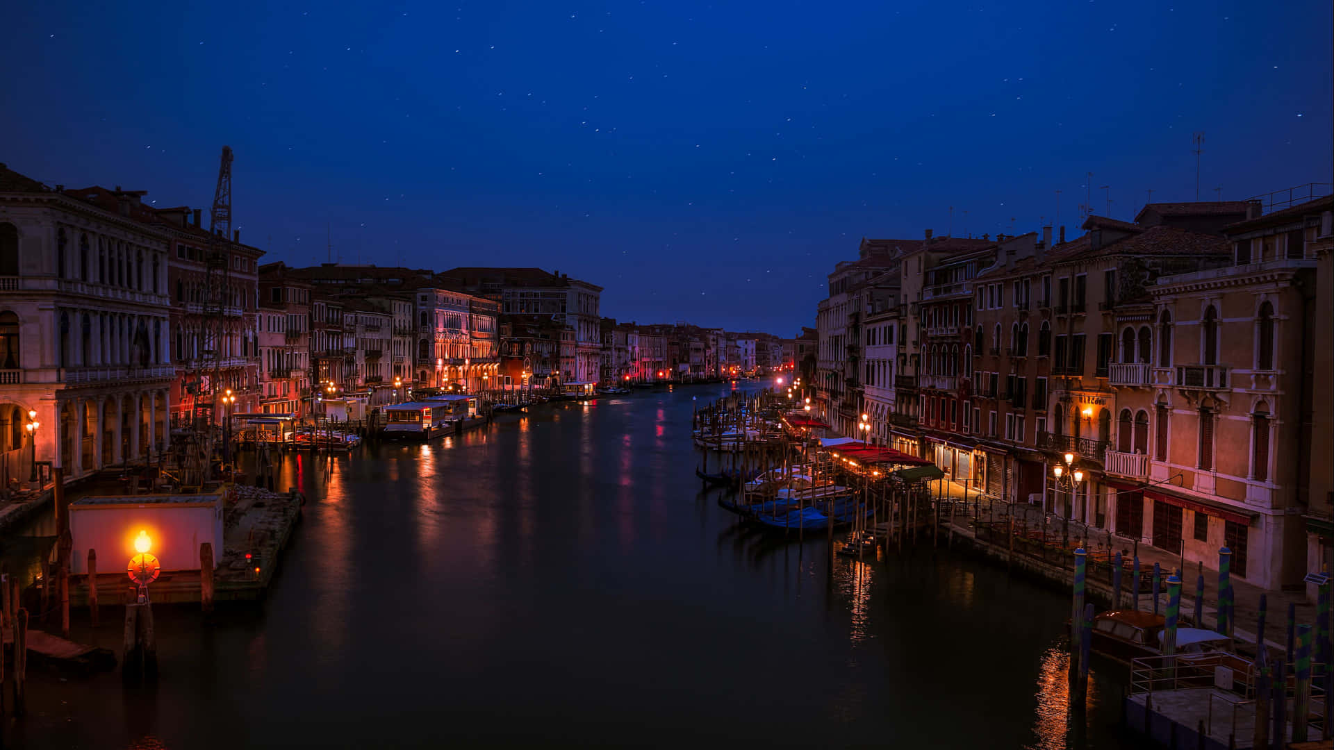
[[169,442],[172,238],[143,195],[49,188],[0,164],[7,487],[28,479],[33,458],[68,479]]

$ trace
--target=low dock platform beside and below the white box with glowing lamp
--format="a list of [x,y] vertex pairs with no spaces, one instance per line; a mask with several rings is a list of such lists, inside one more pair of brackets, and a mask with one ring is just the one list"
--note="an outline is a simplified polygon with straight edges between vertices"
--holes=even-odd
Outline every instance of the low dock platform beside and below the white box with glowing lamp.
[[[236,503],[224,510],[224,548],[213,573],[215,601],[261,598],[277,573],[280,554],[301,515],[300,494],[237,486],[236,498]],[[101,565],[111,570],[97,574],[99,602],[127,603],[131,582],[125,570],[112,560]],[[199,603],[200,590],[197,570],[164,571],[149,586],[149,597],[153,603]],[[69,605],[88,605],[87,575],[69,578]]]

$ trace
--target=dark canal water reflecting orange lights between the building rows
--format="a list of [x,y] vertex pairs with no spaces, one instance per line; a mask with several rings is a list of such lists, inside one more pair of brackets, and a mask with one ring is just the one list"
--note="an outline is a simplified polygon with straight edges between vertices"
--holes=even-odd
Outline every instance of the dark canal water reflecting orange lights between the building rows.
[[[35,675],[21,747],[1130,747],[1123,677],[1067,721],[1069,597],[923,546],[836,559],[694,475],[694,399],[548,404],[430,444],[289,456],[261,605],[157,607],[161,677]],[[73,638],[119,654],[119,609]],[[39,626],[40,627],[40,626]],[[48,625],[56,627],[56,623]]]

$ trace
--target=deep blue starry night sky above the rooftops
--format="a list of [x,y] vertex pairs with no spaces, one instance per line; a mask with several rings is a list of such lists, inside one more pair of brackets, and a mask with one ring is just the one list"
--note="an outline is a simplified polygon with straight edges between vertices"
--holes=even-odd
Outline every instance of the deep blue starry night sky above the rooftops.
[[[860,236],[1330,180],[1329,0],[20,3],[0,160],[269,259],[542,266],[791,335]],[[1215,194],[1214,188],[1221,187]],[[967,214],[964,214],[967,212]]]

